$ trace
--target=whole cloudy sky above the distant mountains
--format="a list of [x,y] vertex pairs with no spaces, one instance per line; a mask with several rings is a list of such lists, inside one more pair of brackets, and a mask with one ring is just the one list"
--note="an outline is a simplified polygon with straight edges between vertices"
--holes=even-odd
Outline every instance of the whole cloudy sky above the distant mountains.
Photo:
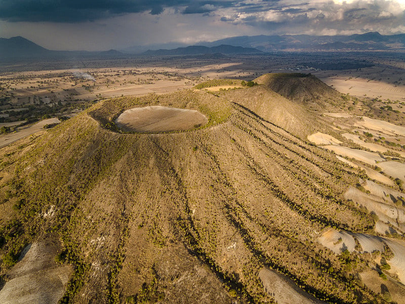
[[405,33],[405,0],[0,0],[0,37],[51,50],[369,31]]

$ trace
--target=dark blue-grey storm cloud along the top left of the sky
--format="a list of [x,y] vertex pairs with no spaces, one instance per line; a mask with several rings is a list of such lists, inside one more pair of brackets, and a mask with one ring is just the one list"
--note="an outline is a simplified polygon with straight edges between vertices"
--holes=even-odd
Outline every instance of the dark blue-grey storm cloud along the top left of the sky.
[[240,1],[210,0],[0,0],[0,19],[31,22],[82,22],[128,13],[160,14],[185,8],[184,14],[212,12]]

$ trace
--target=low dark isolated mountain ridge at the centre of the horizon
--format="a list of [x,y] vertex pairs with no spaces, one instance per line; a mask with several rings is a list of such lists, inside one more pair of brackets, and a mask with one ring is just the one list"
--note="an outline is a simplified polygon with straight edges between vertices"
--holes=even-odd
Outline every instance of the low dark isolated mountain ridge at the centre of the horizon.
[[214,47],[205,46],[189,46],[185,48],[177,48],[173,50],[147,50],[143,55],[196,55],[196,54],[248,54],[248,53],[262,53],[262,51],[254,48],[234,47],[230,45],[220,45]]

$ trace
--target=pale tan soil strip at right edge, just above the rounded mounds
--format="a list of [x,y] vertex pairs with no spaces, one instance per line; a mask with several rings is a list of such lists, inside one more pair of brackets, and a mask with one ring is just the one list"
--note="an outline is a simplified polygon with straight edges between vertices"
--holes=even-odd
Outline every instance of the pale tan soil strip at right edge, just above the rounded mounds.
[[369,212],[377,214],[381,221],[405,232],[405,210],[396,207],[392,201],[386,201],[381,197],[364,193],[352,186],[345,193],[345,199],[353,201],[359,207],[366,207]]

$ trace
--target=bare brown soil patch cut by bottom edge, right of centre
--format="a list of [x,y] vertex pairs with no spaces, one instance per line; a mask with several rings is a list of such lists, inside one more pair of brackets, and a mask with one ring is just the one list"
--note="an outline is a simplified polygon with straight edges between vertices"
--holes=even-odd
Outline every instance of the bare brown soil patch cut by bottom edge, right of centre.
[[264,290],[270,294],[278,304],[320,304],[322,302],[301,290],[286,276],[280,275],[268,268],[259,271],[259,278]]

